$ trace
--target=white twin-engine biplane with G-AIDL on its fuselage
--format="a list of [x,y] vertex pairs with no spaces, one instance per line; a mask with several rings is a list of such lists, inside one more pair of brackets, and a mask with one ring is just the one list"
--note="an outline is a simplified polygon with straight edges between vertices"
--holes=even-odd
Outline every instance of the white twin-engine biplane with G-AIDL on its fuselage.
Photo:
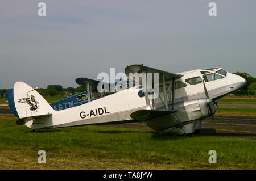
[[143,93],[142,86],[137,82],[122,91],[101,94],[92,99],[91,92],[96,90],[95,82],[99,81],[91,85],[88,81],[88,102],[59,111],[54,110],[35,89],[26,83],[16,82],[14,102],[19,115],[16,124],[42,129],[141,120],[159,133],[194,133],[199,131],[205,117],[214,115],[214,104],[218,99],[246,84],[245,79],[222,68],[197,69],[179,74],[143,65],[125,68],[127,76],[143,72],[158,73],[159,93],[156,98],[150,96],[147,90]]

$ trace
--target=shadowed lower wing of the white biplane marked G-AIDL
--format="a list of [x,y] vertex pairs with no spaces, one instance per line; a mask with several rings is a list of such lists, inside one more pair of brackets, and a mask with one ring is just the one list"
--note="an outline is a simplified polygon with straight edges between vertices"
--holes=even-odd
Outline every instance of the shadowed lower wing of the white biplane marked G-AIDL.
[[150,119],[154,119],[156,117],[168,115],[177,110],[139,110],[131,113],[131,118],[146,121]]

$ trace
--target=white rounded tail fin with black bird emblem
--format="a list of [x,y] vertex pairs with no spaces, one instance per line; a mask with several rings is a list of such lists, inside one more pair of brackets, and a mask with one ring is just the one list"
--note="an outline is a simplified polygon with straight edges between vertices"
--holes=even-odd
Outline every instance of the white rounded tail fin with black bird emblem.
[[13,96],[20,119],[47,115],[55,111],[42,95],[24,82],[16,82],[14,84]]

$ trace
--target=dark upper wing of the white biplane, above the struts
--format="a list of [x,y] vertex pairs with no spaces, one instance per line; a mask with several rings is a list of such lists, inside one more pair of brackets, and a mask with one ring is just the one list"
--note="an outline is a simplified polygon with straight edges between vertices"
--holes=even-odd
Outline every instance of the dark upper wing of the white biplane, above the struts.
[[[125,74],[127,76],[129,76],[129,73],[142,73],[142,72],[159,73],[159,83],[162,82],[163,75],[164,75],[164,79],[166,81],[168,81],[170,79],[176,79],[176,78],[183,77],[182,74],[169,73],[167,71],[150,68],[148,66],[143,66],[143,65],[130,65],[125,68]],[[154,74],[152,74],[152,77],[153,76],[154,76]],[[154,77],[153,77],[153,79],[154,79]]]

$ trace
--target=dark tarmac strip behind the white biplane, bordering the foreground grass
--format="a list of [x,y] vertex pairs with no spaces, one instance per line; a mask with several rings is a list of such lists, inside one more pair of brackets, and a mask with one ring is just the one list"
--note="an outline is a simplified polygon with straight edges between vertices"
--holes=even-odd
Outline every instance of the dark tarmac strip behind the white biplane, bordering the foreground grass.
[[[14,117],[9,107],[0,107],[0,117]],[[204,119],[199,135],[205,136],[228,136],[252,138],[256,140],[256,117],[254,116],[214,116],[215,124],[212,117]],[[105,127],[114,128],[131,128],[137,130],[151,131],[142,122],[108,124]]]

